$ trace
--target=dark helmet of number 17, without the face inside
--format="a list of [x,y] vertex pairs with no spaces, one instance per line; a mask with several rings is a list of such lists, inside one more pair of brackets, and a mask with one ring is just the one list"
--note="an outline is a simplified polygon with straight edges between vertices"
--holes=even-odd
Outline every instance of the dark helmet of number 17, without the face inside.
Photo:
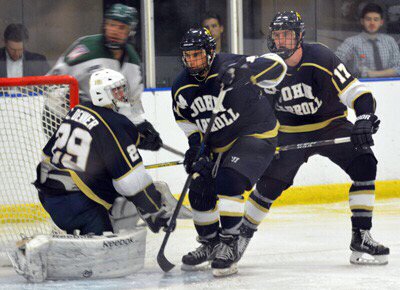
[[[277,47],[273,32],[278,30],[290,30],[295,33],[295,45],[293,48],[287,47]],[[268,48],[271,52],[276,53],[283,59],[287,59],[295,53],[295,51],[300,47],[303,42],[305,34],[304,22],[298,12],[295,11],[285,11],[278,12],[272,19],[269,25],[269,33],[267,38]]]

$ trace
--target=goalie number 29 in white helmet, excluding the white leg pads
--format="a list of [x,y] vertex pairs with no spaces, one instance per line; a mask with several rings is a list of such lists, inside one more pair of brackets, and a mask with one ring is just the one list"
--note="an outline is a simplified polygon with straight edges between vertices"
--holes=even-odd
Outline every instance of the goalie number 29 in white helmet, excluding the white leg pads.
[[166,225],[161,194],[146,172],[135,125],[118,111],[130,107],[125,77],[111,69],[90,78],[91,102],[73,108],[43,149],[35,186],[54,223],[72,234],[113,231],[108,210],[118,197],[137,208],[149,228]]

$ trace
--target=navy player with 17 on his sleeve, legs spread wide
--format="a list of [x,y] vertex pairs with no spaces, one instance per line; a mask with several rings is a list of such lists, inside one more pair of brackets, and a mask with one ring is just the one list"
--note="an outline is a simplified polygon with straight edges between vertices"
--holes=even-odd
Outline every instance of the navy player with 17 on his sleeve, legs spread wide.
[[[276,14],[269,29],[270,51],[280,55],[288,66],[284,80],[277,87],[265,90],[273,97],[281,124],[279,145],[346,136],[351,136],[351,143],[281,152],[263,173],[246,203],[240,253],[273,202],[293,184],[300,166],[318,154],[340,166],[353,181],[349,190],[353,252],[350,262],[386,264],[389,249],[370,234],[377,170],[370,146],[374,145],[372,135],[380,123],[375,115],[375,100],[331,50],[321,44],[303,43],[304,23],[297,12]],[[355,110],[354,125],[346,118],[347,108]]]

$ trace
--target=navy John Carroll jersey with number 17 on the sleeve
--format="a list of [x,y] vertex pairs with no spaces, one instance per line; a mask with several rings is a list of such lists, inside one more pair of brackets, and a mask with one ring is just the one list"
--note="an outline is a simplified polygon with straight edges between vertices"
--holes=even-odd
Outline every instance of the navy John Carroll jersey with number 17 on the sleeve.
[[347,107],[353,108],[358,97],[370,93],[326,46],[314,43],[302,47],[299,64],[288,67],[278,86],[265,89],[273,97],[281,132],[321,129],[334,119],[345,118]]

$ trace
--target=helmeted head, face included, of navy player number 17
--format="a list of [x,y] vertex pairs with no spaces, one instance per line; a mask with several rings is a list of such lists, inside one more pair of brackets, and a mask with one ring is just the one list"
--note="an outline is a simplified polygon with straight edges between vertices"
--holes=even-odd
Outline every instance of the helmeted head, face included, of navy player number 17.
[[288,59],[300,47],[304,34],[304,22],[298,12],[278,12],[269,26],[268,48],[283,59]]

